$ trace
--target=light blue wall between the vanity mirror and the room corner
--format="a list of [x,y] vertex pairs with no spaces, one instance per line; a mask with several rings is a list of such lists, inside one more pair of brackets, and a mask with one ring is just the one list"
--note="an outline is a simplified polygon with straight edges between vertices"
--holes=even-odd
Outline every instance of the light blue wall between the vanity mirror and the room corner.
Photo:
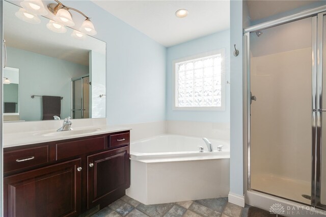
[[166,48],[91,1],[64,3],[92,17],[106,42],[107,123],[165,120]]

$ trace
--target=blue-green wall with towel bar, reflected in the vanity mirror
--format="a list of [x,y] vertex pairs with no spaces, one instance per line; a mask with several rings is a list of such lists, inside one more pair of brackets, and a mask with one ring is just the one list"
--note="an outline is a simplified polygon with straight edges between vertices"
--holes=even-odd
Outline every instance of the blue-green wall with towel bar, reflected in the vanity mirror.
[[42,98],[31,95],[63,96],[61,118],[71,116],[71,78],[88,74],[88,66],[8,46],[7,56],[7,66],[19,69],[20,120],[42,120]]

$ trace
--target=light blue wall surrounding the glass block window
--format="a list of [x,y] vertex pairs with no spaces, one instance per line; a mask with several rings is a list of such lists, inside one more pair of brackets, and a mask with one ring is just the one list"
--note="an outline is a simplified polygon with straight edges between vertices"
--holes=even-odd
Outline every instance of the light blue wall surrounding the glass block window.
[[226,50],[226,80],[230,78],[230,31],[223,31],[189,42],[167,48],[167,120],[202,121],[202,122],[230,122],[230,85],[226,85],[225,111],[175,111],[174,105],[174,72],[173,61],[225,48]]

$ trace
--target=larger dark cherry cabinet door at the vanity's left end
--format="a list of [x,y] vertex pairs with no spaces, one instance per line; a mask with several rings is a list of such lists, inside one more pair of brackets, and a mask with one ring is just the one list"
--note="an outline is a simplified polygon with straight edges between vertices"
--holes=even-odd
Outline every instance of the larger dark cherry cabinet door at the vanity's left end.
[[76,215],[81,191],[78,167],[80,158],[4,178],[5,216]]

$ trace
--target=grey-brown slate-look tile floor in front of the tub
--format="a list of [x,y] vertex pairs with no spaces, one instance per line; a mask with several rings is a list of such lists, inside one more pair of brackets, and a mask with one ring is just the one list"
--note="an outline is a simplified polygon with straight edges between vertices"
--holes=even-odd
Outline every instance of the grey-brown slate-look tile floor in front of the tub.
[[248,205],[242,208],[228,203],[228,198],[144,205],[125,195],[91,217],[247,217],[248,209]]

